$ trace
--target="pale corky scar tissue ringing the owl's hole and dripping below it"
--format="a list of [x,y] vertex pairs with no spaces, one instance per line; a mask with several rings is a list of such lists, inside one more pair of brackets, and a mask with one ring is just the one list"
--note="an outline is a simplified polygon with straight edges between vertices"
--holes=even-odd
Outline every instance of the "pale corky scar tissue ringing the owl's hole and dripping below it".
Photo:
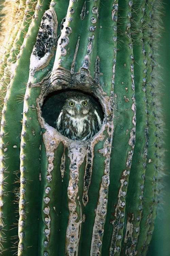
[[[83,75],[82,75],[83,74]],[[105,96],[103,89],[98,86],[95,86],[96,82],[90,77],[88,70],[80,69],[78,73],[73,73],[64,70],[64,69],[56,69],[52,72],[52,74],[44,79],[41,83],[31,85],[31,87],[40,86],[41,93],[39,98],[37,99],[38,106],[38,119],[42,128],[46,129],[43,133],[43,141],[46,147],[46,154],[48,157],[48,168],[47,168],[47,183],[52,181],[52,171],[54,169],[53,160],[54,153],[60,144],[63,143],[64,148],[68,148],[68,157],[70,159],[69,171],[70,171],[70,179],[68,184],[68,208],[69,208],[69,219],[68,226],[66,232],[66,252],[68,255],[71,255],[71,251],[78,253],[78,241],[80,239],[80,231],[82,225],[82,217],[79,222],[76,222],[78,218],[78,213],[76,212],[77,208],[77,198],[78,198],[78,184],[79,184],[79,168],[86,161],[85,174],[84,174],[84,192],[82,202],[85,206],[88,202],[88,189],[91,181],[91,172],[93,166],[93,158],[94,158],[94,147],[99,141],[104,141],[103,149],[99,150],[99,153],[105,157],[105,169],[102,177],[102,182],[100,185],[100,195],[98,199],[98,205],[96,209],[96,221],[94,226],[94,234],[93,240],[91,244],[91,250],[96,250],[96,246],[94,244],[101,244],[100,236],[96,238],[95,233],[97,232],[99,226],[100,230],[103,230],[104,219],[106,215],[106,207],[107,207],[107,193],[108,193],[108,185],[109,185],[109,162],[110,162],[110,153],[111,153],[111,145],[112,145],[112,136],[113,136],[113,95],[109,98]],[[101,102],[104,112],[105,118],[103,120],[103,125],[101,130],[95,135],[92,139],[87,141],[73,141],[63,136],[56,129],[49,126],[45,123],[44,118],[41,116],[41,107],[43,105],[44,99],[51,91],[61,90],[66,88],[76,88],[81,90],[86,90],[94,96],[99,98]],[[107,131],[107,136],[104,134],[104,131]],[[65,166],[64,163],[65,153],[63,153],[62,157],[62,172],[61,175],[64,175]],[[51,187],[52,189],[52,187]],[[44,199],[45,200],[45,199]],[[48,215],[50,213],[48,212]],[[49,217],[49,216],[48,216]],[[74,228],[73,228],[74,227]],[[73,239],[74,237],[74,239]],[[71,246],[71,247],[70,247]],[[72,248],[72,249],[71,249]],[[98,249],[97,249],[98,250]],[[76,254],[77,255],[77,254]]]

